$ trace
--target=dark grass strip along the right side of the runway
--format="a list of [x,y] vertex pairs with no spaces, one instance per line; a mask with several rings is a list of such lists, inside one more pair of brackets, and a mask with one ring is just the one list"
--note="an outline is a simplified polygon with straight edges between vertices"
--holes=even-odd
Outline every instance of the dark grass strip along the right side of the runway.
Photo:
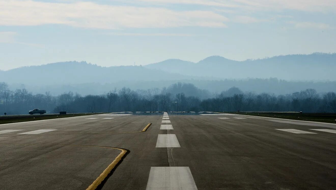
[[317,121],[336,123],[336,113],[297,113],[297,112],[223,112],[240,115],[254,115],[271,118],[295,119],[302,121]]

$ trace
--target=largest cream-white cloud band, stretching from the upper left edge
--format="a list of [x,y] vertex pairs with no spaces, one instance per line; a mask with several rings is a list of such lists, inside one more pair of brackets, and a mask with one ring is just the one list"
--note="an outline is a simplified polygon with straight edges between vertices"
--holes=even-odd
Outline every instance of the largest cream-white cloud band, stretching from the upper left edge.
[[5,26],[63,24],[99,29],[225,27],[226,21],[228,19],[225,16],[212,11],[174,11],[166,8],[113,6],[92,2],[0,1],[0,25]]

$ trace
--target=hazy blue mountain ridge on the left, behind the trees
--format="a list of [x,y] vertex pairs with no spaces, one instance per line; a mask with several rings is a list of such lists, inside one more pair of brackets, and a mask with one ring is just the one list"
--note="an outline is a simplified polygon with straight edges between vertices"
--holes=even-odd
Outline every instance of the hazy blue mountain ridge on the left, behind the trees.
[[20,67],[2,71],[0,81],[23,84],[81,84],[117,81],[189,79],[190,76],[154,71],[142,66],[101,67],[86,62],[59,62],[41,66]]

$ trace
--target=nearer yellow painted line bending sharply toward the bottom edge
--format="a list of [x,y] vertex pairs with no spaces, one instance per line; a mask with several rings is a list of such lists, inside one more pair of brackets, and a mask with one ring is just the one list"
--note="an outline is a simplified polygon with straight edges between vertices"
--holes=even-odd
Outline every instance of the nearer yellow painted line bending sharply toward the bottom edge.
[[[147,125],[149,126],[149,125]],[[7,145],[55,145],[55,144],[16,144],[16,143],[0,143],[0,144],[7,144]],[[94,190],[101,184],[102,181],[110,174],[112,169],[118,164],[122,157],[126,154],[127,150],[122,148],[115,148],[115,147],[103,147],[103,146],[88,146],[88,145],[58,145],[58,146],[83,146],[83,147],[98,147],[98,148],[111,148],[120,150],[121,153],[113,160],[113,162],[100,174],[100,176],[94,180],[94,182],[86,189],[86,190]]]

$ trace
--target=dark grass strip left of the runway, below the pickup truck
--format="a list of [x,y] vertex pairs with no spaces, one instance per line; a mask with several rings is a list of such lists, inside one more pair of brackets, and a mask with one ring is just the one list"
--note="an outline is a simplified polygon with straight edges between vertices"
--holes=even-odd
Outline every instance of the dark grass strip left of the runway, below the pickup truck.
[[1,116],[0,124],[5,123],[17,123],[17,122],[25,122],[25,121],[37,121],[37,120],[45,120],[45,119],[57,119],[57,118],[65,118],[65,117],[77,117],[84,115],[95,115],[95,114],[104,114],[104,113],[74,113],[74,114],[50,114],[50,115],[15,115],[15,116]]

